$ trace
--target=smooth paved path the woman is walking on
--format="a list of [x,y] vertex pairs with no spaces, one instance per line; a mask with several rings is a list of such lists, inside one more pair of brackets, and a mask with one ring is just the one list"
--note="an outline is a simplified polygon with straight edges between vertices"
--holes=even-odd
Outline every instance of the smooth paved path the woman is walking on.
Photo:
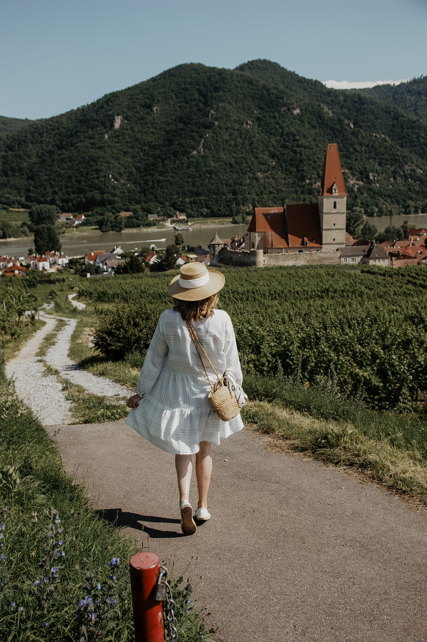
[[161,559],[176,553],[178,572],[199,555],[197,604],[219,642],[426,640],[426,513],[401,499],[242,430],[214,449],[212,519],[183,537],[172,455],[124,421],[64,426],[55,440],[127,534],[149,535]]

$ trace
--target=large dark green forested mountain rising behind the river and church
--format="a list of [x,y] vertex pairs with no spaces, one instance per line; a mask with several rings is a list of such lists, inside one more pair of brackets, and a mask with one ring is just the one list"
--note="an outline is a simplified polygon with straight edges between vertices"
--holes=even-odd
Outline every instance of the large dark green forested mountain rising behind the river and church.
[[190,216],[316,202],[329,142],[349,207],[426,207],[427,123],[266,60],[179,65],[1,136],[0,202]]

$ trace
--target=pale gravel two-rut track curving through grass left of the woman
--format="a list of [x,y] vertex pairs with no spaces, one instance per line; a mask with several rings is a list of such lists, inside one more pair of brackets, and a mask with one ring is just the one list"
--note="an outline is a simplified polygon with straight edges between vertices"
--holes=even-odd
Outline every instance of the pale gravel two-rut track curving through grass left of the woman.
[[[29,339],[17,356],[6,363],[6,376],[8,379],[13,377],[19,398],[33,410],[44,426],[69,424],[72,421],[71,403],[65,399],[62,385],[55,376],[43,376],[46,369],[40,358],[36,357],[42,341],[53,331],[58,317],[40,311],[40,318],[46,325]],[[63,377],[83,386],[92,394],[104,397],[128,397],[133,394],[128,388],[110,379],[86,372],[69,358],[71,335],[77,320],[72,318],[63,318],[63,320],[67,324],[58,332],[56,342],[47,351],[46,362],[58,370]]]

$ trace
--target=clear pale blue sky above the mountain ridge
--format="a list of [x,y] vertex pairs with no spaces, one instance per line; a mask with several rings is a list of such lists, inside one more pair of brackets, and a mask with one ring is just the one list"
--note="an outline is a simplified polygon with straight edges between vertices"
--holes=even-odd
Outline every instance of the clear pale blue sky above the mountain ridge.
[[426,33],[426,0],[0,0],[0,114],[53,116],[185,62],[414,78]]

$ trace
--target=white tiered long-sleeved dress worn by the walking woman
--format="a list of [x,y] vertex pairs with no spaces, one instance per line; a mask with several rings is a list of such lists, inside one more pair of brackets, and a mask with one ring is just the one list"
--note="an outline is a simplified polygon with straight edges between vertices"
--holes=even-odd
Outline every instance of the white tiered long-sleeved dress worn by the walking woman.
[[[213,316],[192,322],[194,329],[222,376],[230,372],[242,383],[239,354],[233,324],[226,312],[214,310]],[[215,374],[201,352],[211,383]],[[211,376],[212,372],[212,376]],[[181,314],[165,310],[160,315],[146,360],[137,383],[142,396],[132,408],[126,424],[167,453],[190,455],[199,451],[199,442],[219,446],[243,428],[240,415],[222,421],[208,401],[210,385],[196,347]]]

